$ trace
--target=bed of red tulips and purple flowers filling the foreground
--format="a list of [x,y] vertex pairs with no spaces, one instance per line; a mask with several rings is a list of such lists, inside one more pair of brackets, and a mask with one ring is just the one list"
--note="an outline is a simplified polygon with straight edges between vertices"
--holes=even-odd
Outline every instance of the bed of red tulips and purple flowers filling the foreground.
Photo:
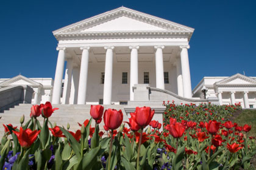
[[[20,127],[3,124],[0,169],[250,169],[256,138],[251,125],[227,120],[235,106],[163,103],[163,124],[154,110],[137,107],[123,122],[121,110],[91,106],[91,119],[69,126],[51,123],[51,103],[31,107]],[[27,113],[29,114],[29,113]],[[43,123],[37,117],[44,117]],[[102,121],[103,119],[103,121]],[[91,122],[95,121],[95,126]],[[104,123],[105,131],[99,131]],[[162,127],[163,126],[163,127]],[[162,127],[163,131],[160,130]]]

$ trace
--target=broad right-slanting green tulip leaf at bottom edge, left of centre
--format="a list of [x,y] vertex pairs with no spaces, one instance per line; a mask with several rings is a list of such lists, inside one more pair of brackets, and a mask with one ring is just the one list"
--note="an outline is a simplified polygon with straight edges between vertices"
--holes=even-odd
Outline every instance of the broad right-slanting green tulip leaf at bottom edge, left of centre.
[[101,149],[101,146],[98,146],[96,148],[91,149],[90,152],[84,155],[83,160],[82,160],[82,169],[89,169],[92,168],[94,165],[95,161],[93,162],[92,160],[94,158],[97,159],[97,155],[99,150]]

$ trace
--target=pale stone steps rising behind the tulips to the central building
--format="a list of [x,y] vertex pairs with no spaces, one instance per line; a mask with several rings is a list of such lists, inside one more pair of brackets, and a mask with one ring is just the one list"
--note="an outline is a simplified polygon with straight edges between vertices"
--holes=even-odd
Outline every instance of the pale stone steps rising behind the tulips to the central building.
[[[104,109],[121,109],[124,115],[123,121],[128,121],[128,117],[126,112],[124,111],[124,106],[126,105],[104,105]],[[13,124],[13,126],[18,126],[20,128],[20,118],[24,114],[25,121],[29,121],[30,117],[30,108],[32,107],[32,104],[20,104],[19,106],[15,106],[14,108],[10,108],[10,110],[5,110],[4,114],[0,114],[0,138],[2,135],[4,135],[4,127],[2,124]],[[57,126],[64,126],[66,128],[66,125],[70,124],[69,131],[76,131],[77,129],[80,129],[77,122],[80,124],[84,123],[86,119],[91,118],[90,115],[90,105],[76,105],[76,104],[53,104],[52,106],[58,107],[58,110],[55,110],[54,113],[49,117],[49,121],[51,121],[52,125],[54,123],[57,124]],[[38,117],[38,120],[41,123],[41,126],[43,125],[43,117]],[[94,127],[94,120],[91,123],[91,126]],[[100,123],[100,131],[105,132],[104,130],[104,121],[102,120]]]

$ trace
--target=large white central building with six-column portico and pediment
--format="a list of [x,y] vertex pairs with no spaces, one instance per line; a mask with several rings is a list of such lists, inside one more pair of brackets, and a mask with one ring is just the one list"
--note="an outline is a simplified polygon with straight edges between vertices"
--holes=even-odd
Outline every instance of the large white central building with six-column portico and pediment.
[[59,55],[52,103],[126,104],[135,84],[192,98],[193,31],[126,7],[55,30]]

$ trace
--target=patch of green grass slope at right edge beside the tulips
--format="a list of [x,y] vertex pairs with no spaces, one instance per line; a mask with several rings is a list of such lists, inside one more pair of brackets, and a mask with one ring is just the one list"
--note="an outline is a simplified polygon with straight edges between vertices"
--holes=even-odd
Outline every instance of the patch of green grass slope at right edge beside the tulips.
[[238,126],[244,126],[244,124],[251,125],[252,129],[247,135],[256,137],[256,110],[245,109],[233,121]]

